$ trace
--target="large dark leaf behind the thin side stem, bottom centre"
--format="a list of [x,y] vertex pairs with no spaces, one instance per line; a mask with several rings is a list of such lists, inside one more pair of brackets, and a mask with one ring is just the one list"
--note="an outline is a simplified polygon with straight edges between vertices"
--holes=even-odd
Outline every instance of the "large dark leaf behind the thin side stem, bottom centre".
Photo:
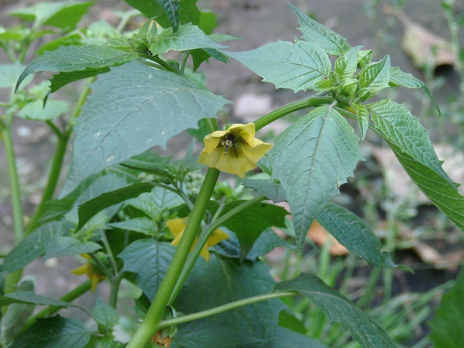
[[[177,298],[176,309],[184,314],[221,306],[271,291],[275,282],[262,262],[237,264],[211,255],[210,262],[198,260]],[[267,347],[274,338],[279,300],[263,301],[179,325],[174,342],[195,348],[228,348],[252,344]]]

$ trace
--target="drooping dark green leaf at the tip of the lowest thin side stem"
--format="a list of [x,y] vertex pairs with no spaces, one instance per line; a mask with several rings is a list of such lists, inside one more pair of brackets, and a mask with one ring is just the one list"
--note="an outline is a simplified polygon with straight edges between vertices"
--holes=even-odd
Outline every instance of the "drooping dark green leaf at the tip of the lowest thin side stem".
[[279,283],[275,291],[298,291],[331,322],[340,323],[363,348],[396,348],[396,344],[368,314],[313,274],[300,274]]

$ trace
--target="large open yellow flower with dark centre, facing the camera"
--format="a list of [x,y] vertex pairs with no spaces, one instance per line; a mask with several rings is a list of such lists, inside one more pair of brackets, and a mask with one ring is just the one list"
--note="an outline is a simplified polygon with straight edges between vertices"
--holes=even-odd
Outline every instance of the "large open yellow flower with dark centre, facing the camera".
[[233,124],[227,130],[217,130],[204,137],[204,148],[198,158],[211,168],[217,168],[241,178],[256,167],[271,144],[254,137],[254,123]]

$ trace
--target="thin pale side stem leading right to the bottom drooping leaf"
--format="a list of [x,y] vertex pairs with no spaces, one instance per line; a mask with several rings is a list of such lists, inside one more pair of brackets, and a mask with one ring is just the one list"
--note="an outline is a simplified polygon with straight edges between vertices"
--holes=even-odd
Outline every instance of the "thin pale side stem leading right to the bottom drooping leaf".
[[230,311],[231,309],[235,309],[235,308],[242,307],[245,305],[250,305],[256,302],[261,302],[261,301],[266,301],[266,300],[271,300],[271,299],[277,299],[279,297],[284,297],[284,296],[299,296],[299,293],[296,291],[281,291],[281,292],[269,292],[263,295],[248,297],[247,299],[231,302],[223,306],[208,309],[206,311],[201,311],[201,312],[185,315],[183,317],[179,317],[175,319],[164,320],[157,325],[156,331],[158,331],[159,329],[162,329],[163,327],[187,323],[192,320],[210,317],[212,315],[219,314],[225,311]]

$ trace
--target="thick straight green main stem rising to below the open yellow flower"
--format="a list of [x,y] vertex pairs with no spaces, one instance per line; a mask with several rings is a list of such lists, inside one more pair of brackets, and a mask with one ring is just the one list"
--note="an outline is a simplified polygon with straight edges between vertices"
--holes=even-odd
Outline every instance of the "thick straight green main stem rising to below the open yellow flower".
[[126,348],[144,347],[151,337],[156,333],[157,326],[163,319],[163,314],[168,305],[171,293],[177,283],[179,275],[184,267],[190,248],[196,237],[196,231],[203,220],[204,212],[210,202],[211,195],[219,177],[219,170],[209,168],[198,193],[197,200],[193,206],[193,210],[188,218],[182,238],[176,248],[173,259],[166,275],[161,282],[156,296],[148,309],[145,318],[135,332],[134,336],[127,344]]

